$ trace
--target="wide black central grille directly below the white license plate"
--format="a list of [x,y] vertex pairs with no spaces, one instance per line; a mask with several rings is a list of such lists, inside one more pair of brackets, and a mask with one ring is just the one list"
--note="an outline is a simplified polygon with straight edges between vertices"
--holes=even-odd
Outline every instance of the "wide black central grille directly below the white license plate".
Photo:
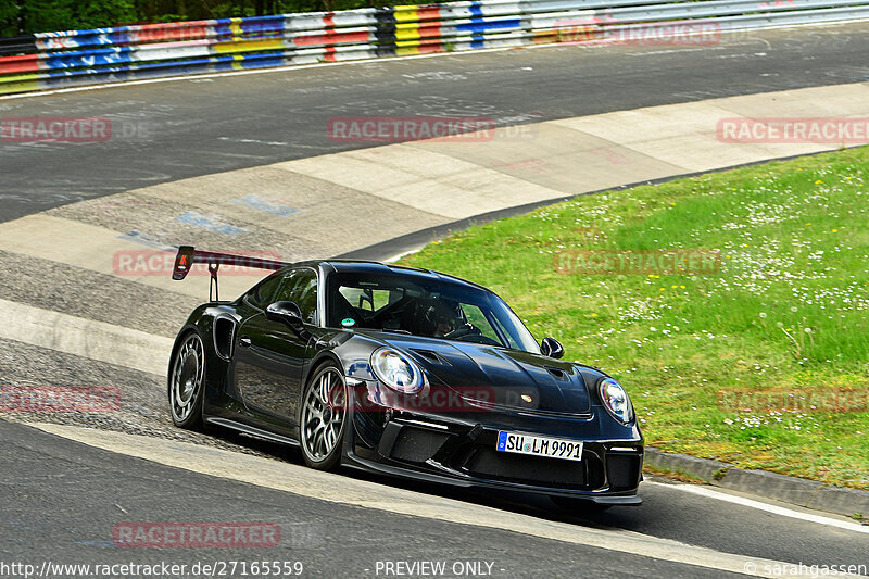
[[526,456],[477,446],[466,463],[471,476],[561,489],[590,490],[603,486],[603,464],[593,454],[582,461]]

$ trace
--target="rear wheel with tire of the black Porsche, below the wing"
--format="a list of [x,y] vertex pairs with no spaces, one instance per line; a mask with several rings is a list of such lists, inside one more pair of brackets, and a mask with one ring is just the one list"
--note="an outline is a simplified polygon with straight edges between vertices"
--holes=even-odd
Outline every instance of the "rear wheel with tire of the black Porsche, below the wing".
[[169,365],[168,397],[172,421],[189,430],[202,427],[205,390],[205,347],[196,331],[181,340]]

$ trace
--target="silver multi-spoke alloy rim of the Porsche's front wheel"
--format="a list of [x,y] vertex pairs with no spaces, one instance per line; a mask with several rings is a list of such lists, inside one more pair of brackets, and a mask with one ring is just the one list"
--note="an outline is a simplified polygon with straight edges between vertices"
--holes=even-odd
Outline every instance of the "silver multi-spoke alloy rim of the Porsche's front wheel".
[[327,367],[314,378],[302,406],[302,446],[315,463],[327,460],[341,441],[344,425],[344,379]]

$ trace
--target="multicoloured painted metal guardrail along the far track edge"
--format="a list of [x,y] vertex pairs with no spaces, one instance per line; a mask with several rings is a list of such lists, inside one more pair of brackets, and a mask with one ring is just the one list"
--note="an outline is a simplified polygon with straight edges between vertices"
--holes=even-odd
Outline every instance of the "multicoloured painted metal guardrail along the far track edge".
[[[0,38],[0,95],[161,76],[869,18],[869,0],[486,0]],[[5,55],[3,55],[5,54]]]

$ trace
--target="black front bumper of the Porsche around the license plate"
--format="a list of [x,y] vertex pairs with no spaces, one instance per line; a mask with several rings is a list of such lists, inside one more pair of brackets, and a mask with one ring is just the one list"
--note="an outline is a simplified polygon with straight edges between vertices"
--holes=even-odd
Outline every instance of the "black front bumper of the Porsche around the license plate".
[[[360,407],[360,406],[355,406]],[[643,439],[602,412],[536,416],[522,412],[412,413],[366,401],[353,413],[349,466],[458,487],[518,490],[637,505]],[[604,416],[601,416],[601,415]],[[582,461],[495,451],[499,430],[583,442]]]

